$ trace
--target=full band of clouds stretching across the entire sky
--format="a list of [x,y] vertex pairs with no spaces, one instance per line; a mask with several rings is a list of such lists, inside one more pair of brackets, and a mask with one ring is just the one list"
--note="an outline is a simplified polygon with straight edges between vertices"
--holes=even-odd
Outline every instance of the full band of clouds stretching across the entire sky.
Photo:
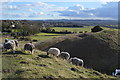
[[[64,5],[64,4],[63,4]],[[98,8],[85,8],[83,5],[76,4],[70,7],[58,7],[45,2],[26,2],[24,4],[4,3],[3,16],[7,18],[27,18],[27,17],[62,17],[62,18],[109,18],[117,19],[118,3],[108,2]],[[8,13],[9,12],[9,13]],[[5,14],[6,13],[6,14]],[[7,16],[6,16],[7,15]],[[44,16],[43,16],[44,15]],[[4,18],[3,17],[3,18]]]

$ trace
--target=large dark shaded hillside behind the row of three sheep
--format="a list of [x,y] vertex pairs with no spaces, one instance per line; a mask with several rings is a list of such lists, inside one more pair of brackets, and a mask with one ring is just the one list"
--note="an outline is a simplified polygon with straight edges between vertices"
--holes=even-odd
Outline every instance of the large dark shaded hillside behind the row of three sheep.
[[61,51],[69,52],[72,57],[82,58],[85,67],[102,73],[112,74],[120,67],[117,31],[66,35],[38,43],[36,47],[43,51],[47,51],[50,47],[57,47]]

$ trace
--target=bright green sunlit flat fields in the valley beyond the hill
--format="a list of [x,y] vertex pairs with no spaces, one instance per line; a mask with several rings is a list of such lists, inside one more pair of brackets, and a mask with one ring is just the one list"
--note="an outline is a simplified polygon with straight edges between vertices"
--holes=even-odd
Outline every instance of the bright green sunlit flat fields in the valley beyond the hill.
[[[94,26],[86,26],[84,28],[65,28],[65,27],[52,27],[52,29],[55,29],[55,31],[71,31],[71,32],[76,32],[76,33],[79,33],[79,32],[91,32],[91,28],[93,28]],[[105,28],[105,27],[102,27],[104,30],[109,30],[109,31],[118,31],[118,29],[111,29],[111,28]],[[66,34],[56,34],[56,33],[38,33],[38,34],[35,34],[35,35],[32,35],[32,36],[28,36],[28,38],[31,38],[32,40],[35,39],[35,40],[38,40],[38,41],[44,41],[44,40],[48,40],[48,39],[51,39],[53,37],[60,37],[60,36],[64,36]]]

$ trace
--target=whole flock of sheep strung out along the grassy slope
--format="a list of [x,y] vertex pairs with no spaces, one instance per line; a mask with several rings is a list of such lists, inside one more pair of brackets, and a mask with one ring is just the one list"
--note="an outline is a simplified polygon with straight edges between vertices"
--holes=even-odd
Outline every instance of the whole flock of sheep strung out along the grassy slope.
[[[11,49],[13,51],[13,53],[15,53],[15,48],[18,47],[18,41],[17,40],[8,40],[5,39],[5,42],[3,43],[3,48],[4,49]],[[35,46],[34,44],[32,44],[32,42],[27,43],[24,45],[24,50],[29,50],[32,54],[34,54],[34,50],[35,50]],[[74,58],[70,58],[70,54],[68,52],[60,52],[60,50],[58,48],[50,48],[47,51],[47,55],[53,55],[56,57],[60,57],[62,59],[66,59],[68,61],[70,61],[73,65],[76,66],[83,66],[84,62],[82,59],[79,59],[77,57]]]

